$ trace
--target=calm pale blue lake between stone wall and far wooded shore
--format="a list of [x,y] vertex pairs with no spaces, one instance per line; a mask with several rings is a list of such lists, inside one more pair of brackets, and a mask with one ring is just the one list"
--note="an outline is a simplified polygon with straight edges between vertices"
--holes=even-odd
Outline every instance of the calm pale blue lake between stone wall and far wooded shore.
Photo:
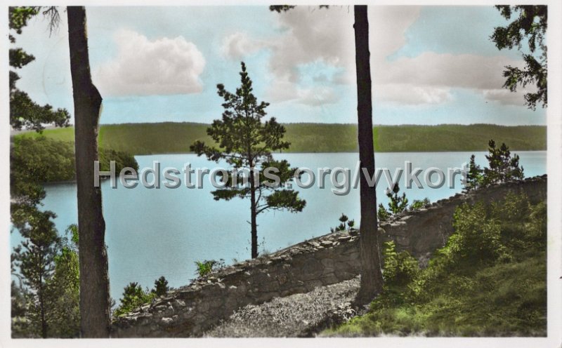
[[[547,152],[516,152],[525,176],[542,175],[547,170]],[[393,175],[396,168],[404,168],[405,161],[412,168],[436,167],[446,173],[445,168],[460,167],[467,163],[472,152],[424,152],[424,153],[379,153],[378,167],[387,167]],[[487,152],[476,152],[476,162],[484,166]],[[276,159],[287,159],[292,166],[311,168],[350,168],[357,166],[358,154],[276,154]],[[140,168],[152,167],[159,161],[162,170],[174,167],[181,170],[186,162],[192,168],[214,168],[216,163],[194,154],[159,154],[136,156]],[[224,163],[219,166],[228,168]],[[404,173],[405,175],[405,173]],[[460,175],[455,185],[447,183],[438,189],[404,189],[404,175],[400,180],[400,192],[405,192],[410,203],[414,199],[429,198],[431,201],[447,198],[462,192]],[[424,177],[419,175],[420,180]],[[150,175],[149,175],[149,181]],[[437,175],[433,175],[434,182]],[[338,180],[343,180],[340,176]],[[306,183],[306,175],[303,182]],[[423,180],[421,180],[423,182]],[[341,181],[338,181],[341,182]],[[377,203],[388,202],[384,195],[386,180],[382,175],[377,185]],[[330,227],[339,224],[338,218],[345,213],[359,226],[359,189],[350,189],[349,194],[336,195],[327,178],[324,189],[317,185],[298,189],[306,207],[302,213],[265,212],[258,216],[258,237],[261,252],[273,252],[305,239],[329,233]],[[115,300],[122,295],[124,286],[131,281],[152,288],[155,279],[166,276],[170,286],[188,284],[195,278],[195,260],[223,259],[227,264],[245,260],[250,255],[249,200],[214,201],[210,194],[214,190],[209,180],[201,189],[185,186],[169,189],[148,189],[138,185],[126,189],[117,185],[110,187],[109,180],[102,184],[103,213],[106,223],[106,243],[109,257],[110,293]],[[77,223],[77,198],[74,184],[47,185],[44,209],[53,210],[58,216],[55,225],[60,234],[66,227]],[[17,232],[11,234],[11,246],[20,243]]]

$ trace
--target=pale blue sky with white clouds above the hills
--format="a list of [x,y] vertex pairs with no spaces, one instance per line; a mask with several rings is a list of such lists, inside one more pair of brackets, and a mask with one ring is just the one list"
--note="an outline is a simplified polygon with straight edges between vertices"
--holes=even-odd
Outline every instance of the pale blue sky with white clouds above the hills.
[[[62,9],[61,9],[62,11]],[[353,7],[86,7],[100,123],[220,119],[217,83],[240,86],[240,62],[268,116],[283,123],[357,123]],[[66,14],[16,35],[36,60],[18,70],[33,100],[73,113]],[[502,88],[521,53],[489,37],[507,23],[492,6],[370,6],[376,124],[547,122]]]

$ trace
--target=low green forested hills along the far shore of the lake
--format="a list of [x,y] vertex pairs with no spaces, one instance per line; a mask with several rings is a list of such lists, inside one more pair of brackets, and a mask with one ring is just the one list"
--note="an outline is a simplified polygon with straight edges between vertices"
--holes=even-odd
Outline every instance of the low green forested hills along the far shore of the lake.
[[[195,140],[209,142],[204,123],[126,123],[103,125],[100,145],[131,154],[173,154],[189,152]],[[336,123],[288,123],[285,138],[288,152],[355,152],[357,125]],[[73,141],[74,129],[48,129],[47,138]],[[16,137],[37,136],[29,132]],[[510,149],[547,149],[546,126],[497,126],[491,124],[438,126],[375,126],[377,152],[485,151],[488,140],[505,142]]]

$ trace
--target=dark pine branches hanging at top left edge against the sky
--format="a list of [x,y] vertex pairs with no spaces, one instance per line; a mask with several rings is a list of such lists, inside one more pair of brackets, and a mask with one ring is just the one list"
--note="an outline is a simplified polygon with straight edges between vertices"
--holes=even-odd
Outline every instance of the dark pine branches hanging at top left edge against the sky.
[[[39,8],[32,7],[10,7],[8,12],[9,26],[15,33],[21,34],[27,21],[39,13]],[[15,43],[15,36],[9,35],[12,44]],[[10,67],[21,69],[32,62],[35,58],[22,50],[22,48],[10,48],[9,53]],[[70,114],[66,109],[53,110],[51,105],[38,105],[31,100],[30,96],[16,87],[16,82],[20,76],[10,71],[10,125],[12,128],[20,130],[30,128],[35,131],[42,131],[44,123],[53,123],[55,126],[68,126]]]

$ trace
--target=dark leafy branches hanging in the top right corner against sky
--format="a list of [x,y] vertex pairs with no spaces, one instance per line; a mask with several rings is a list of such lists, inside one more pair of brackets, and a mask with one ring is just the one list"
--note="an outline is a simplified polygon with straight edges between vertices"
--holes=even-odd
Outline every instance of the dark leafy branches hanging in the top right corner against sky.
[[[535,86],[535,92],[525,93],[525,104],[530,109],[536,109],[538,103],[547,107],[547,24],[548,10],[545,5],[535,6],[495,6],[499,13],[507,20],[514,20],[506,27],[495,27],[490,39],[494,41],[499,50],[516,47],[519,51],[525,41],[528,43],[530,53],[521,53],[525,62],[523,69],[508,65],[504,70],[507,78],[504,88],[515,92],[518,86],[525,88],[528,84]],[[539,54],[536,56],[535,54]]]

